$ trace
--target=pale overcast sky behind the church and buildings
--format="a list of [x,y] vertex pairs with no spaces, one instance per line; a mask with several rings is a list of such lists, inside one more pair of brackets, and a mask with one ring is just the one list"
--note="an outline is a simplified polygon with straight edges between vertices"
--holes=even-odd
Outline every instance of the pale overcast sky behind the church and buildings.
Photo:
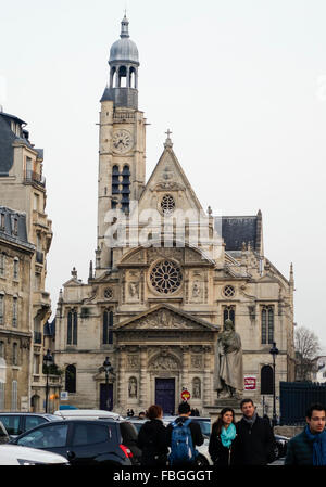
[[0,9],[0,104],[45,149],[53,222],[47,290],[88,277],[97,230],[98,123],[127,8],[140,55],[147,179],[173,131],[202,206],[263,214],[265,255],[293,262],[298,325],[326,348],[324,0],[15,0]]

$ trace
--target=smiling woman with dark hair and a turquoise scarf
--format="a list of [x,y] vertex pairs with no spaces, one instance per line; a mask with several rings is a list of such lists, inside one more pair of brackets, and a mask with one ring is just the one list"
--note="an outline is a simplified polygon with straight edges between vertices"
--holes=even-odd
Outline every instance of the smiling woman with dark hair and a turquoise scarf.
[[212,425],[209,453],[214,466],[230,466],[235,464],[237,430],[235,411],[223,408],[217,421]]

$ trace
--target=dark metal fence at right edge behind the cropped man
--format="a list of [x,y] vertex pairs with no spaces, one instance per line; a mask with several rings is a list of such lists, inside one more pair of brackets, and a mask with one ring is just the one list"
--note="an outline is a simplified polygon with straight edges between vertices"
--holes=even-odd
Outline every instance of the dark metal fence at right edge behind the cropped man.
[[326,407],[326,384],[313,382],[280,382],[279,409],[281,425],[302,425],[305,411],[314,402]]

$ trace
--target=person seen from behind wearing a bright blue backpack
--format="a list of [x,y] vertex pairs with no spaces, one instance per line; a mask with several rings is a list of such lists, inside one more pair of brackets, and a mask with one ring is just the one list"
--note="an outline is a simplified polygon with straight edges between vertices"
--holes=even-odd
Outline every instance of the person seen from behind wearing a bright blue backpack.
[[178,418],[166,428],[167,446],[171,447],[168,464],[171,466],[193,466],[198,457],[196,447],[203,444],[204,437],[199,423],[192,422],[188,402],[178,407]]

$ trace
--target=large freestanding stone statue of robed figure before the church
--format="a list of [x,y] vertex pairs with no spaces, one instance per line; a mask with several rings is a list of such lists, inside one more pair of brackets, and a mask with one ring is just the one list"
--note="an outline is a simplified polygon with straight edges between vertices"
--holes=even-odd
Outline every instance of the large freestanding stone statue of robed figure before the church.
[[216,343],[214,390],[217,398],[239,398],[243,389],[241,338],[231,320],[226,320]]

